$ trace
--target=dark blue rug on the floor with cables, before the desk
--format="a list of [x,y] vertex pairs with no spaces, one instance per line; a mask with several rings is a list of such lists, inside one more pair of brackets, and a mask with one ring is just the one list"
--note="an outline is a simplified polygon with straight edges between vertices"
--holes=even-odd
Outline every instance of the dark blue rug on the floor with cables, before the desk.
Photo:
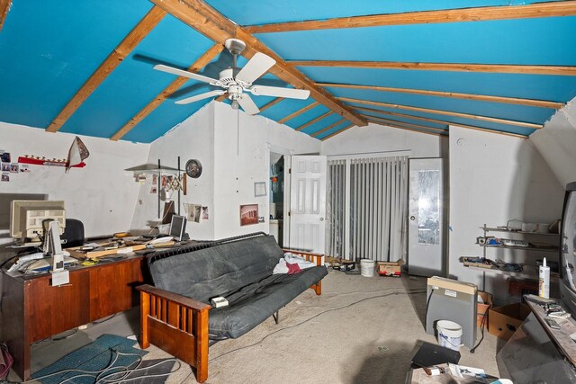
[[[58,360],[58,362],[35,372],[31,378],[41,378],[50,373],[66,370],[102,371],[109,367],[116,357],[117,359],[112,367],[118,367],[118,369],[112,369],[111,372],[120,371],[122,367],[134,368],[138,364],[140,357],[147,353],[146,351],[133,348],[132,345],[135,343],[134,340],[117,335],[102,335],[93,343],[85,345],[72,353],[68,353],[62,359]],[[130,354],[118,354],[114,351]],[[93,373],[94,376],[92,377],[82,376],[70,379],[81,374],[83,373],[80,371],[66,371],[39,380],[43,384],[58,384],[67,379],[69,379],[66,381],[67,383],[78,384],[92,384],[96,381],[95,376],[97,373]],[[116,378],[118,378],[118,376],[116,376]]]

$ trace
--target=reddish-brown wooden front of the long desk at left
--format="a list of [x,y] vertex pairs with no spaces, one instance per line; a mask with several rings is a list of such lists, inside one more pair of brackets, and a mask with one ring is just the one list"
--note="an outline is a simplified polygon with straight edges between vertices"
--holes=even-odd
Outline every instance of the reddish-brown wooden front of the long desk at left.
[[30,344],[139,305],[134,287],[142,284],[145,259],[70,269],[70,282],[50,285],[49,273],[0,274],[0,340],[14,356],[14,371],[28,380]]

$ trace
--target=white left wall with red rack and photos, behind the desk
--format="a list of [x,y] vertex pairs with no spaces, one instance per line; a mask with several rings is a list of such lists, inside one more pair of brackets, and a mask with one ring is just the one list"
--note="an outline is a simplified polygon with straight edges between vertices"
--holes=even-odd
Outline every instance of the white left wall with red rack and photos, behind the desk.
[[[18,156],[34,155],[67,158],[76,135],[0,122],[0,149]],[[84,222],[85,235],[100,236],[130,228],[139,192],[125,168],[143,163],[148,144],[111,141],[81,136],[90,156],[84,168],[30,165],[30,173],[10,174],[10,182],[0,183],[0,193],[45,193],[49,200],[66,202],[68,218]]]

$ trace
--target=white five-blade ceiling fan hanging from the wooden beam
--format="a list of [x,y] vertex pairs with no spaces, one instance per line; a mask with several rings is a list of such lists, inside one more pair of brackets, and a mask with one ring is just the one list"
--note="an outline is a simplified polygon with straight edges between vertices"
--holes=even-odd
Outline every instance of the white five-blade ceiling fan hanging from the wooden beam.
[[228,94],[229,100],[232,102],[232,108],[238,110],[238,106],[242,107],[247,114],[257,114],[260,112],[256,103],[250,97],[250,94],[274,97],[286,97],[291,99],[307,99],[310,91],[304,89],[283,88],[279,86],[266,86],[266,85],[253,85],[258,77],[264,75],[268,69],[273,67],[276,63],[274,58],[270,58],[264,53],[257,52],[250,58],[246,66],[242,68],[236,67],[236,59],[238,55],[246,49],[246,44],[242,40],[229,39],[224,43],[226,49],[232,54],[233,64],[220,72],[219,78],[211,78],[202,76],[193,72],[184,71],[175,67],[168,67],[162,64],[154,66],[154,69],[166,72],[172,75],[184,76],[192,78],[193,80],[202,81],[213,86],[220,86],[222,89],[206,92],[204,94],[196,94],[192,97],[187,97],[176,101],[176,104],[187,104],[197,102],[199,100],[207,99],[213,96],[220,96],[221,94]]

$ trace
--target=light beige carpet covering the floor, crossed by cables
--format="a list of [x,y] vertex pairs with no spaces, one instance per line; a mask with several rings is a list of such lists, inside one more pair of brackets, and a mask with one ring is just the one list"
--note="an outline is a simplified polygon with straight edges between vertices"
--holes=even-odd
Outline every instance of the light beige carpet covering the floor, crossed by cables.
[[[331,271],[322,290],[321,296],[307,290],[281,309],[280,324],[270,317],[247,335],[212,345],[207,382],[403,383],[420,344],[437,342],[423,326],[426,278],[366,278]],[[92,339],[103,333],[128,336],[138,332],[137,326],[138,313],[132,310],[128,317],[122,314],[84,332]],[[478,334],[480,339],[480,330]],[[499,376],[497,344],[485,332],[476,353],[460,348],[460,363]],[[63,354],[69,352],[64,349],[59,347]],[[48,346],[32,350],[34,367],[43,365],[48,351]],[[154,346],[148,351],[145,360],[169,357]],[[196,380],[183,363],[166,382]]]

